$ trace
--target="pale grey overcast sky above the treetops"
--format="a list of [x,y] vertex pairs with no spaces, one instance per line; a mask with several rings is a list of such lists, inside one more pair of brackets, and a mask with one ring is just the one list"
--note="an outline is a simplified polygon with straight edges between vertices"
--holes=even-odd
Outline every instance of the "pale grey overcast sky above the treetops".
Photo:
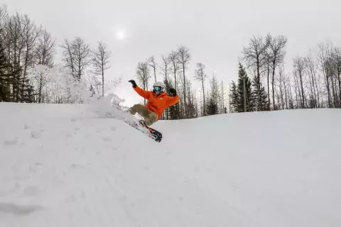
[[[161,64],[161,55],[178,45],[190,48],[190,78],[196,62],[202,62],[210,77],[215,71],[226,85],[237,79],[238,57],[252,35],[288,38],[287,71],[293,57],[307,55],[320,42],[341,45],[340,0],[0,0],[0,4],[43,24],[58,45],[75,36],[93,48],[97,40],[107,43],[112,51],[107,75],[123,75],[117,93],[127,106],[140,99],[127,82],[136,79],[137,62],[155,55]],[[124,32],[124,39],[117,38],[119,32]]]

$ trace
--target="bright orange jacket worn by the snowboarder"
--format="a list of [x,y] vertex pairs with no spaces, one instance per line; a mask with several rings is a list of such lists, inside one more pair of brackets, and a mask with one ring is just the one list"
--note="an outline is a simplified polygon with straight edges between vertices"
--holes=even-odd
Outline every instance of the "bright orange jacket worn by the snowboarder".
[[159,96],[157,96],[155,93],[141,89],[138,86],[136,86],[134,90],[137,92],[137,94],[144,97],[144,99],[148,100],[146,107],[150,111],[153,111],[154,113],[158,114],[158,120],[161,119],[163,111],[168,106],[173,106],[177,104],[179,101],[178,94],[176,96],[171,97],[168,96],[166,92],[163,92]]

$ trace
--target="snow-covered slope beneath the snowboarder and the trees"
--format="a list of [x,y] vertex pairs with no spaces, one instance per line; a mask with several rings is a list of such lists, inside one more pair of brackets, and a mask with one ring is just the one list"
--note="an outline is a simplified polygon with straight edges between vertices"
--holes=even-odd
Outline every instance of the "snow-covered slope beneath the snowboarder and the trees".
[[[0,226],[341,226],[341,111],[160,121],[0,104]],[[117,111],[114,111],[117,114]]]

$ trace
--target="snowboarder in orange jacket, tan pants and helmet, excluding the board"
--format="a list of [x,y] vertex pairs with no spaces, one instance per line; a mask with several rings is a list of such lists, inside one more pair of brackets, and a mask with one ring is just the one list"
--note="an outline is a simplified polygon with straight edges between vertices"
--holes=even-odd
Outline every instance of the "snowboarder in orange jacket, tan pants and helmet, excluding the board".
[[166,92],[163,91],[165,86],[162,82],[156,82],[153,84],[153,92],[141,89],[136,85],[136,82],[133,79],[129,80],[129,82],[132,84],[132,87],[137,94],[148,100],[146,106],[135,104],[129,108],[129,112],[132,115],[135,115],[137,112],[143,116],[147,126],[151,126],[153,123],[156,123],[156,121],[160,120],[163,111],[168,106],[173,106],[179,101],[179,96],[176,94],[175,89],[170,89],[172,96],[168,96]]

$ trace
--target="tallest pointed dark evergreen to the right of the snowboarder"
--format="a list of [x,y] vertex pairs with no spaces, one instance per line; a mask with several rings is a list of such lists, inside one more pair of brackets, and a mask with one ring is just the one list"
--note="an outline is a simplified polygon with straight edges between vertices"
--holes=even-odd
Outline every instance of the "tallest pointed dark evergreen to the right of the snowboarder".
[[[245,91],[246,91],[246,102],[244,102],[244,81],[245,79]],[[238,101],[237,101],[237,111],[238,112],[244,112],[246,103],[246,109],[247,112],[254,110],[254,99],[252,96],[252,89],[251,89],[251,81],[249,77],[247,76],[247,72],[245,71],[244,67],[241,63],[239,63],[239,71],[238,71],[238,86],[237,86],[237,95],[238,95]]]

